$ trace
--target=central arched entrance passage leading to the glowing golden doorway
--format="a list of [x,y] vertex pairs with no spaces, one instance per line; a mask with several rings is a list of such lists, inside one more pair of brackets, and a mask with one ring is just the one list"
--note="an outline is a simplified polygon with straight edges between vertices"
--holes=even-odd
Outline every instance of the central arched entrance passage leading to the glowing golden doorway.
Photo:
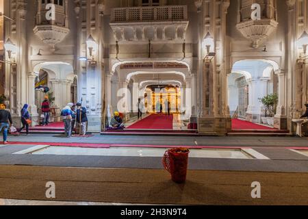
[[176,117],[173,120],[175,129],[179,123],[181,128],[188,129],[194,96],[191,92],[192,77],[187,64],[157,60],[122,62],[115,64],[112,69],[114,72],[110,81],[107,81],[108,121],[111,120],[113,112],[118,111],[127,122],[127,127],[138,122],[140,100],[144,105],[144,116],[170,113]]

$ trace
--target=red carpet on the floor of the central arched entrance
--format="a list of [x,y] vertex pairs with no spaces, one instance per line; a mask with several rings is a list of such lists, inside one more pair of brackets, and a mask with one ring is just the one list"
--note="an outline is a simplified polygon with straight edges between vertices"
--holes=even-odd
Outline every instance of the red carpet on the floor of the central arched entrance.
[[152,114],[127,129],[173,129],[173,116]]

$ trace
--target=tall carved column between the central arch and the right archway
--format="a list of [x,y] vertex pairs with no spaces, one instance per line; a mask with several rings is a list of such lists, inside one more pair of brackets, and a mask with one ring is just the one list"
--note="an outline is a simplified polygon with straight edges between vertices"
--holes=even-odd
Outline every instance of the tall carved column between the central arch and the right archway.
[[[201,118],[198,131],[203,134],[224,135],[227,133],[227,69],[225,64],[226,16],[228,0],[204,1],[203,37],[209,33],[214,38],[215,57],[203,62],[201,73]],[[205,48],[201,48],[205,57]]]

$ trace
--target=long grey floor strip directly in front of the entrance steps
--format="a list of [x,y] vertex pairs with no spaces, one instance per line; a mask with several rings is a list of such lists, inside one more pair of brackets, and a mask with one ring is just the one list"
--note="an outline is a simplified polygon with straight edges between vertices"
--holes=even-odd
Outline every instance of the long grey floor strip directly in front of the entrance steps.
[[9,137],[10,142],[78,142],[100,144],[151,144],[179,146],[255,146],[255,147],[308,147],[308,138],[298,137],[206,137],[206,136],[101,136],[91,138],[62,138],[61,135],[31,134]]

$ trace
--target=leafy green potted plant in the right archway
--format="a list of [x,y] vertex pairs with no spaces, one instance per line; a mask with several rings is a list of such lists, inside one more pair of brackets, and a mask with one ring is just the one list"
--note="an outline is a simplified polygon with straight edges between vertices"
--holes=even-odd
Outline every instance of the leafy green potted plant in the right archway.
[[274,126],[274,115],[276,114],[278,104],[278,94],[269,94],[264,96],[264,98],[259,99],[259,101],[264,105],[266,111],[266,120],[263,117],[262,122],[264,124],[267,123],[270,126]]

